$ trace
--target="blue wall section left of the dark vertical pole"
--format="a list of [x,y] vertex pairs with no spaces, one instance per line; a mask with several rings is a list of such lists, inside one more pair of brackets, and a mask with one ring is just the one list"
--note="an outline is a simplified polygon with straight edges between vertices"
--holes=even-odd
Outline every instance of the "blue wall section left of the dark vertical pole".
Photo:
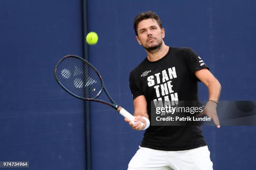
[[84,169],[84,104],[53,75],[64,55],[82,55],[81,9],[79,0],[0,0],[1,161]]

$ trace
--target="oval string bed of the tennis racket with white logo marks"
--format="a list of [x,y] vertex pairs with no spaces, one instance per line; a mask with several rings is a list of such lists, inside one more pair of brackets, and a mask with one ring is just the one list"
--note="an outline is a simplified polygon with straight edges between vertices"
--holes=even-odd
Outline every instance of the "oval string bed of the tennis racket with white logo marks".
[[82,98],[94,98],[102,89],[102,81],[96,71],[78,58],[68,57],[61,61],[56,75],[66,89]]

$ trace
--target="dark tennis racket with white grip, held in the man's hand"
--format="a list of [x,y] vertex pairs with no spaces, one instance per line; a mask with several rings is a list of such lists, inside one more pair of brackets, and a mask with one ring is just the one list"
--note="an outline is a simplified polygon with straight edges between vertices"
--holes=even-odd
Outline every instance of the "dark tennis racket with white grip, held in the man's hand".
[[[64,56],[56,64],[54,76],[58,84],[72,96],[82,100],[97,101],[113,107],[123,117],[136,124],[133,115],[116,104],[111,98],[97,69],[83,58],[74,55]],[[97,99],[102,91],[105,91],[111,103]],[[141,122],[142,126],[143,123]]]

